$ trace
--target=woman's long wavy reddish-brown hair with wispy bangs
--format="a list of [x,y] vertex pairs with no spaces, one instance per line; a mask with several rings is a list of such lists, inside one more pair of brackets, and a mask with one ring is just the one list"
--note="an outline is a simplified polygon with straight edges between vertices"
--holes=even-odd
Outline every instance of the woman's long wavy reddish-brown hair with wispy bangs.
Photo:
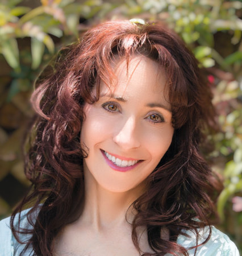
[[[202,131],[214,120],[211,92],[198,62],[183,41],[162,23],[105,22],[87,31],[80,42],[60,51],[36,81],[31,102],[36,111],[24,151],[30,192],[11,216],[11,229],[29,239],[22,254],[52,255],[53,240],[68,223],[80,217],[84,201],[83,159],[88,148],[80,143],[85,102],[99,97],[100,81],[114,79],[114,55],[146,56],[165,69],[166,92],[172,105],[174,135],[158,166],[147,178],[148,189],[132,204],[132,240],[141,255],[187,254],[177,237],[187,230],[209,226],[218,194],[216,177],[202,157]],[[97,95],[91,94],[94,85]],[[217,192],[216,192],[217,191]],[[24,208],[31,228],[15,225]],[[18,216],[18,217],[17,217]],[[137,228],[147,227],[153,254],[141,251]],[[163,233],[168,234],[164,238]],[[207,241],[205,240],[205,242]],[[205,243],[203,242],[203,243]]]

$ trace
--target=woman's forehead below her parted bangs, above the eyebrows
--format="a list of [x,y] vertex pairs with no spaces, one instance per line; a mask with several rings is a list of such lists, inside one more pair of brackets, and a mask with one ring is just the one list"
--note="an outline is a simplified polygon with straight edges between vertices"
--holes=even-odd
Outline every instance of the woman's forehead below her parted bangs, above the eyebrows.
[[[155,102],[171,109],[165,93],[167,79],[161,65],[148,57],[135,55],[128,63],[126,58],[116,58],[110,66],[114,79],[111,82],[101,80],[99,96],[114,96],[140,106]],[[97,86],[94,93],[96,89]]]

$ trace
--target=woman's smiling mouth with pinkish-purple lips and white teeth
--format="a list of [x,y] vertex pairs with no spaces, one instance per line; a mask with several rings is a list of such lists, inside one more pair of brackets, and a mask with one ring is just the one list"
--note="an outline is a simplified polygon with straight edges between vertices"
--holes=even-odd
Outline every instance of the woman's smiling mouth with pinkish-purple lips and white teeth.
[[135,168],[137,164],[139,164],[142,161],[142,160],[135,160],[131,158],[120,159],[115,155],[111,155],[107,151],[101,150],[101,152],[103,156],[105,156],[105,160],[109,164],[109,166],[116,171],[125,172],[128,170],[131,170]]

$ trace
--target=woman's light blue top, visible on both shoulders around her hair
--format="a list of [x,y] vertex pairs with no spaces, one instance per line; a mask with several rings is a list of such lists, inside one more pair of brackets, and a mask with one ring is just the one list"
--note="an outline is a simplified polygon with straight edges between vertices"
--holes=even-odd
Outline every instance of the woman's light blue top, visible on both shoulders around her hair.
[[[27,223],[27,218],[23,216],[21,221],[21,227],[26,226]],[[4,220],[0,221],[0,256],[19,256],[24,248],[24,245],[18,243],[15,240],[14,236],[12,236],[9,226],[10,218],[5,218]],[[206,239],[208,232],[208,228],[205,228],[204,230],[199,232],[199,243],[203,242]],[[187,234],[190,235],[190,238],[180,235],[178,236],[177,243],[185,248],[195,246],[195,234],[191,231],[187,232]],[[20,235],[21,240],[27,240],[27,238],[27,235]],[[195,249],[189,250],[189,255],[194,255],[194,251]],[[28,250],[24,255],[32,255],[32,250]],[[237,250],[235,243],[233,243],[226,234],[220,232],[213,226],[210,240],[208,240],[205,245],[198,247],[196,256],[239,256],[239,251]]]

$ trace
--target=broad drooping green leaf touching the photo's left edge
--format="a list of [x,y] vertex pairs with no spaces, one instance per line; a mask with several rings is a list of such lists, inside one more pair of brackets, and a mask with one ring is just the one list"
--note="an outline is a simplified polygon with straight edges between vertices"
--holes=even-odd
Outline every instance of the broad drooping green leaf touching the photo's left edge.
[[5,57],[10,67],[18,70],[19,69],[19,49],[18,43],[15,38],[10,38],[1,42],[2,54]]

